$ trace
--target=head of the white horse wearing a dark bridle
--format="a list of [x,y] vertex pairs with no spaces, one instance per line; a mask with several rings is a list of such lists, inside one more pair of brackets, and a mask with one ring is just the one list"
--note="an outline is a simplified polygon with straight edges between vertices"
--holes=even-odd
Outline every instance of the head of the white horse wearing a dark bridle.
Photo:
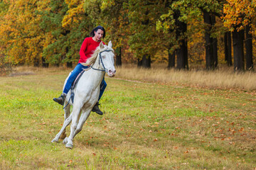
[[100,62],[102,62],[102,67],[107,72],[109,77],[114,77],[116,69],[114,68],[114,50],[112,49],[112,42],[110,41],[108,45],[103,45],[100,42]]

